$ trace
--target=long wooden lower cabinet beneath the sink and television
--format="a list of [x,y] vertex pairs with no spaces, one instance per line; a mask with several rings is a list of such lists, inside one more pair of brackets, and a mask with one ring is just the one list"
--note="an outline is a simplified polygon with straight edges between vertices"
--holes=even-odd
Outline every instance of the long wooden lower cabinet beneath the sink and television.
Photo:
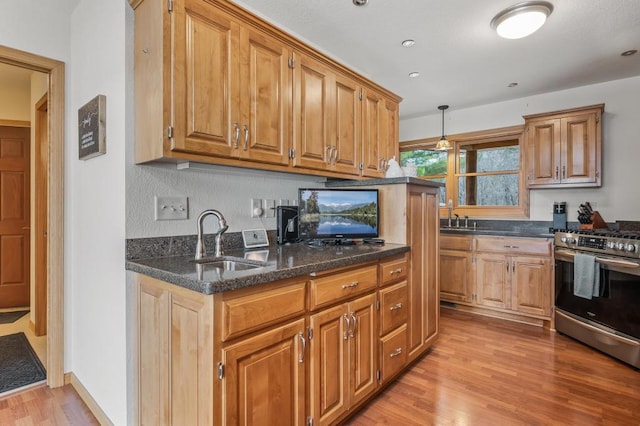
[[214,295],[134,273],[135,423],[343,422],[407,367],[411,327],[429,338],[431,310],[408,322],[410,258]]

